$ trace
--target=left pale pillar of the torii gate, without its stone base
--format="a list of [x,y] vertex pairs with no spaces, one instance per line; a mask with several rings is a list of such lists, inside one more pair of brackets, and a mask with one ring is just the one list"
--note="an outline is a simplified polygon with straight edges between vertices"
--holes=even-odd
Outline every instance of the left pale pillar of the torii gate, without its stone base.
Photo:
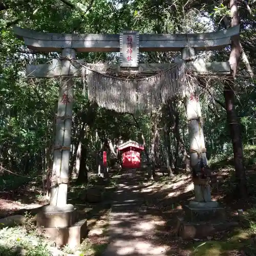
[[[72,102],[73,102],[73,79],[70,74],[71,60],[75,58],[75,50],[66,48],[62,50],[61,74],[67,76],[62,78],[59,88],[58,111],[56,117],[56,137],[53,155],[53,174],[50,204],[64,206],[67,204],[69,160],[72,129]],[[65,59],[67,57],[67,59]]]

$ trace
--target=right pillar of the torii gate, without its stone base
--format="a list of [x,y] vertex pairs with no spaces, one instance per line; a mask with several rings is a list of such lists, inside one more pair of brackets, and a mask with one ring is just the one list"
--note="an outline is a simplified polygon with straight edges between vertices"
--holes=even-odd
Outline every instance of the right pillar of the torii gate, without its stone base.
[[[183,48],[182,59],[184,61],[191,61],[191,57],[195,56],[194,48]],[[197,84],[194,88],[186,93],[186,112],[188,119],[188,133],[190,142],[190,165],[193,173],[198,175],[194,178],[194,190],[196,202],[210,202],[210,186],[208,178],[203,179],[201,173],[201,165],[207,165],[206,148],[204,143],[203,127],[201,122],[201,106],[199,96],[197,93]],[[191,201],[192,203],[192,201]]]

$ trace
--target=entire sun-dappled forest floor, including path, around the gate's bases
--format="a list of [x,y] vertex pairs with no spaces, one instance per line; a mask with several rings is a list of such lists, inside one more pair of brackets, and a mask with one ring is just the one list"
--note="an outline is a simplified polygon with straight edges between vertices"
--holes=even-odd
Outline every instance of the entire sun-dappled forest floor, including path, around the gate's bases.
[[[88,219],[90,230],[78,251],[68,247],[57,250],[35,234],[31,222],[24,227],[0,229],[0,240],[25,246],[30,251],[26,254],[28,256],[99,256],[109,251],[110,254],[103,255],[256,255],[255,167],[247,169],[251,196],[247,201],[236,200],[231,193],[234,173],[229,164],[225,161],[215,165],[219,179],[212,188],[212,197],[226,208],[230,219],[238,219],[238,209],[243,209],[244,217],[236,228],[206,239],[183,241],[175,234],[177,216],[183,214],[183,205],[194,196],[189,174],[180,173],[168,179],[159,172],[154,181],[147,181],[145,171],[133,170],[113,173],[111,184],[104,185],[104,200],[100,203],[87,203],[84,199],[86,186],[71,184],[69,203],[77,208],[80,218]],[[128,191],[130,196],[126,195]],[[48,200],[41,194],[40,185],[36,182],[3,190],[0,192],[0,217],[17,214],[21,209],[29,212],[31,208],[47,204]],[[121,217],[122,211],[126,215]],[[13,238],[10,240],[13,233],[15,241]],[[0,255],[15,255],[2,253],[6,252],[6,248],[1,247],[2,242]],[[120,251],[124,245],[126,250]],[[32,247],[33,251],[30,250]]]

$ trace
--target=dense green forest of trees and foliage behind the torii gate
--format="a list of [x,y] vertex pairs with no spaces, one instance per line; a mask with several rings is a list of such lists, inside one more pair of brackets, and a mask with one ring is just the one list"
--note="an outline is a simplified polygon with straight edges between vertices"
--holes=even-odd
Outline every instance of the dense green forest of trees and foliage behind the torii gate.
[[[231,1],[241,19],[242,58],[232,86],[237,113],[234,129],[241,127],[243,148],[253,152],[256,143],[256,3]],[[231,3],[230,2],[230,3]],[[24,46],[13,35],[13,25],[44,32],[119,34],[130,28],[139,33],[211,32],[230,26],[228,1],[163,0],[6,0],[0,2],[0,165],[2,172],[38,176],[52,168],[58,79],[27,79],[28,63],[46,63],[57,53],[42,54]],[[231,46],[221,51],[199,52],[207,61],[228,61]],[[79,56],[78,56],[79,55]],[[83,53],[87,62],[118,62],[118,54]],[[140,53],[141,63],[170,62],[177,52]],[[230,125],[227,122],[223,79],[200,79],[203,129],[209,163],[232,158]],[[70,174],[79,172],[79,181],[96,172],[102,145],[109,149],[109,165],[116,157],[116,146],[129,139],[147,146],[155,166],[174,171],[184,165],[189,150],[184,102],[175,99],[150,114],[118,114],[99,108],[88,100],[87,88],[75,81],[72,155]],[[232,128],[231,128],[232,129]],[[143,140],[144,138],[144,140]],[[112,147],[113,145],[113,147]],[[245,155],[246,155],[245,154]],[[144,161],[146,161],[146,154]],[[241,155],[239,157],[242,157]],[[245,160],[246,160],[245,156]],[[253,164],[254,158],[245,164]],[[8,172],[9,171],[9,172]],[[237,170],[236,170],[237,171]],[[244,170],[240,169],[240,172]],[[242,175],[243,176],[243,175]],[[240,176],[240,177],[242,177]],[[26,178],[25,178],[26,180]],[[13,182],[13,181],[12,181]],[[19,177],[19,183],[24,180]],[[5,184],[2,184],[4,186]]]

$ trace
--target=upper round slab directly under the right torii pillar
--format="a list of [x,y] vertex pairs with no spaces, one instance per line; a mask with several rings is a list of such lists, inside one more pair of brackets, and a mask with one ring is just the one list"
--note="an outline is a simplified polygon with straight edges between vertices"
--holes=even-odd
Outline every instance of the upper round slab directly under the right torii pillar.
[[184,206],[185,219],[188,221],[211,221],[226,219],[226,212],[223,207],[216,208],[193,208]]

